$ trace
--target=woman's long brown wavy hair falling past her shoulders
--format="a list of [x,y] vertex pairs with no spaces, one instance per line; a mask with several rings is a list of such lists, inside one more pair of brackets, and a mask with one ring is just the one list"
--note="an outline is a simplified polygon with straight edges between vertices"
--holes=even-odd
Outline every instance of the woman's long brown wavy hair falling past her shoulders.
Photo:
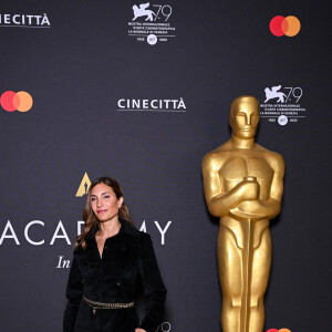
[[[85,237],[91,230],[95,230],[100,228],[100,220],[97,219],[97,217],[95,216],[91,207],[91,190],[93,189],[93,187],[95,187],[98,184],[104,184],[111,187],[117,199],[123,197],[122,189],[118,183],[114,178],[104,176],[104,177],[98,177],[92,181],[87,191],[86,205],[83,211],[83,220],[85,221],[84,229],[82,234],[76,237],[75,250],[79,248],[80,245],[82,246],[83,250],[85,250],[86,249]],[[125,203],[122,204],[121,210],[118,212],[118,218],[129,224],[131,226],[134,226],[134,222],[129,217],[129,211]]]

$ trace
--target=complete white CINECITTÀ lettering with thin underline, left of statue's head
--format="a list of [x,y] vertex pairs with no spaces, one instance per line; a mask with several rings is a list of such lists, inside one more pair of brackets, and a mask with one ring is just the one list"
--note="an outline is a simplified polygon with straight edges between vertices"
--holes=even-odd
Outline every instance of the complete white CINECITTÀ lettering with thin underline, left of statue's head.
[[186,112],[184,98],[178,100],[129,100],[117,101],[117,111],[121,112]]

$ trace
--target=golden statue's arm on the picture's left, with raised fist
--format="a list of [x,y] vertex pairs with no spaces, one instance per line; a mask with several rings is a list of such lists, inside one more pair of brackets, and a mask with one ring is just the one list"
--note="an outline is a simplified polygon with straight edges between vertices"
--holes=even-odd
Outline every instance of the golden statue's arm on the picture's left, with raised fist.
[[208,209],[212,216],[222,218],[240,203],[258,199],[259,184],[245,179],[225,193],[220,183],[220,157],[217,160],[212,154],[207,154],[203,160],[203,177]]

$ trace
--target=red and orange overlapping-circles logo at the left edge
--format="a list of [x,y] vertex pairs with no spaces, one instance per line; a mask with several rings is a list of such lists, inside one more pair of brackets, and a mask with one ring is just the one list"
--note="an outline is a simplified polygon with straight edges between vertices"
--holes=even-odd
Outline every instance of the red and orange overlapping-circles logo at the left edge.
[[2,93],[0,104],[7,112],[28,112],[32,107],[33,100],[30,93],[25,91],[7,91]]

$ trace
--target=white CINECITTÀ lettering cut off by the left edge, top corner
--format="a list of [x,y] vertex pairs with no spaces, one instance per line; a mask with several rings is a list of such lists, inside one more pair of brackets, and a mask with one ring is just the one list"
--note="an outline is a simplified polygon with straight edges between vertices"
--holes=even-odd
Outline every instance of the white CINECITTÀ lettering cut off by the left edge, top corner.
[[33,15],[21,13],[0,13],[0,27],[51,28],[51,22],[45,13]]

